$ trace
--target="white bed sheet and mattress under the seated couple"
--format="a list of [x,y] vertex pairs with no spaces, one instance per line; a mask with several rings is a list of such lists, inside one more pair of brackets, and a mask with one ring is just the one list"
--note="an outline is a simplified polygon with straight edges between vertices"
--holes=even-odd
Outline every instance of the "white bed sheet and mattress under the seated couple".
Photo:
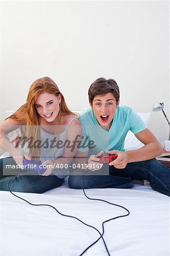
[[[150,186],[86,189],[90,197],[121,204],[130,215],[105,224],[110,255],[169,256],[169,197]],[[51,204],[102,232],[102,221],[126,214],[122,208],[92,201],[67,183],[43,194],[16,193],[34,204]],[[78,256],[99,234],[49,207],[36,207],[1,191],[1,256]],[[84,255],[105,256],[102,240]]]

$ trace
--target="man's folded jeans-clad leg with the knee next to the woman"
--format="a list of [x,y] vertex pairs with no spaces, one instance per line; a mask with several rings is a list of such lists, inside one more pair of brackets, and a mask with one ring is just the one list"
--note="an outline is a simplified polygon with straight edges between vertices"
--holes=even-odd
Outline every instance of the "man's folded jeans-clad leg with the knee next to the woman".
[[[101,173],[101,175],[99,175]],[[131,188],[132,180],[130,177],[114,177],[104,175],[100,171],[73,170],[68,179],[70,188]]]

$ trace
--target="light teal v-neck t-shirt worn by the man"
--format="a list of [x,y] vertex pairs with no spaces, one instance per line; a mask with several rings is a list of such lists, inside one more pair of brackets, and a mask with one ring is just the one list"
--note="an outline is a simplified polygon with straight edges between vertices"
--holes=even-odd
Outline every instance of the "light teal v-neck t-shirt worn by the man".
[[[128,106],[119,106],[115,112],[113,122],[109,131],[103,129],[91,108],[84,110],[80,114],[79,121],[82,124],[82,144],[86,140],[93,141],[92,146],[80,147],[78,151],[89,151],[88,155],[96,155],[103,150],[124,151],[124,142],[127,132],[130,130],[136,134],[146,129],[142,118]],[[84,143],[85,145],[85,143]]]

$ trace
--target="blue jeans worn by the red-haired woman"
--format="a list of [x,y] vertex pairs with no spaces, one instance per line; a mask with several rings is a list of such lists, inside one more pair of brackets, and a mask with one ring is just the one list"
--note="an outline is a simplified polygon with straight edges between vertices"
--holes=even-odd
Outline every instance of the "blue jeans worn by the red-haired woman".
[[[10,182],[11,191],[28,193],[43,193],[45,191],[48,191],[49,189],[59,187],[64,182],[64,179],[59,179],[59,177],[55,175],[40,176],[37,175],[35,172],[30,171],[27,172],[27,175],[23,175],[23,173],[26,172],[26,170],[20,170],[15,168],[10,170],[10,172],[13,173],[13,175],[9,176],[9,170],[7,170],[5,167],[6,164],[16,166],[14,159],[11,157],[0,159],[1,191],[9,191],[8,184],[11,179],[13,179]],[[14,175],[16,176],[14,177]]]

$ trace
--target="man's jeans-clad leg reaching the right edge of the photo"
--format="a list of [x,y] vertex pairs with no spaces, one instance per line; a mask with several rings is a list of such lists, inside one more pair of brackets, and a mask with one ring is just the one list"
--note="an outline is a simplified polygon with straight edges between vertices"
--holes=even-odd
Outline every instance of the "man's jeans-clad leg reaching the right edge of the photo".
[[156,159],[128,163],[124,169],[111,166],[110,174],[131,177],[133,180],[148,180],[154,190],[170,196],[170,170]]

